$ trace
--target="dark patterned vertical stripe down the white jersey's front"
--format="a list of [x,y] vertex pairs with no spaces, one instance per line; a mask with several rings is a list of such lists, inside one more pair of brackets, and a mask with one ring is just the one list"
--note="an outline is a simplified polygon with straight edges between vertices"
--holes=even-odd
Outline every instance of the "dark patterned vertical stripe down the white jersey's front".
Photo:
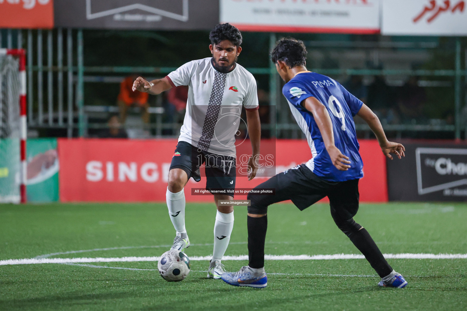
[[226,87],[226,76],[227,74],[219,71],[216,71],[214,75],[214,83],[212,84],[211,97],[209,98],[203,131],[198,141],[198,148],[204,151],[208,151],[212,136],[214,135],[214,128],[216,127],[217,118],[219,117],[220,104],[224,96],[224,88]]

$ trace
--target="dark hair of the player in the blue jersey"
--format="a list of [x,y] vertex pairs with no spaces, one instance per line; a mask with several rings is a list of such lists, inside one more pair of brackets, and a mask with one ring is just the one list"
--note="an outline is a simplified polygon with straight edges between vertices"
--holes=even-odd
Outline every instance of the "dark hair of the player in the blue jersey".
[[294,38],[282,38],[276,42],[271,52],[273,63],[283,61],[289,68],[304,66],[306,61],[306,48],[303,41]]

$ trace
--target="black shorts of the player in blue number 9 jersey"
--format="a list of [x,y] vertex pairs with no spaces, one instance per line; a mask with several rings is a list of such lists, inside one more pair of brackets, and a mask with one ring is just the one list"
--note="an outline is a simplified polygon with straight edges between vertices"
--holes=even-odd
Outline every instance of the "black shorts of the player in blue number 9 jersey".
[[358,179],[341,182],[318,178],[304,164],[288,169],[266,180],[255,188],[275,188],[276,195],[249,195],[250,214],[264,214],[264,208],[291,200],[300,210],[310,207],[324,197],[329,198],[331,212],[347,220],[355,216],[359,207]]

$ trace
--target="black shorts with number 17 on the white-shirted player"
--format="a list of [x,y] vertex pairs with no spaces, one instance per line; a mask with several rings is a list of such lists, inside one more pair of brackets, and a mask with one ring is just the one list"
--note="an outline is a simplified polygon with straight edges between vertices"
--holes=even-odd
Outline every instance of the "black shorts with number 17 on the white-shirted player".
[[[205,164],[206,190],[235,189],[236,162],[234,157],[205,152],[195,146],[179,141],[170,163],[170,169],[181,168],[195,181],[200,181],[199,167]],[[216,192],[219,194],[219,192]]]

